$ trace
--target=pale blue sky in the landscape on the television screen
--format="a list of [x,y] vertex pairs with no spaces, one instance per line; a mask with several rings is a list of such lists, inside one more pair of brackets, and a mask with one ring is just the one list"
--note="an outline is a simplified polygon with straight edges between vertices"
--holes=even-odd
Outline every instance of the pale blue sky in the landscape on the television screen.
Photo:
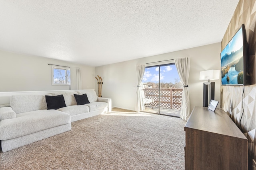
[[230,40],[228,45],[221,52],[221,56],[226,53],[230,54],[232,51],[237,51],[243,46],[243,31],[242,28],[238,30],[238,32],[234,35],[234,37]]

